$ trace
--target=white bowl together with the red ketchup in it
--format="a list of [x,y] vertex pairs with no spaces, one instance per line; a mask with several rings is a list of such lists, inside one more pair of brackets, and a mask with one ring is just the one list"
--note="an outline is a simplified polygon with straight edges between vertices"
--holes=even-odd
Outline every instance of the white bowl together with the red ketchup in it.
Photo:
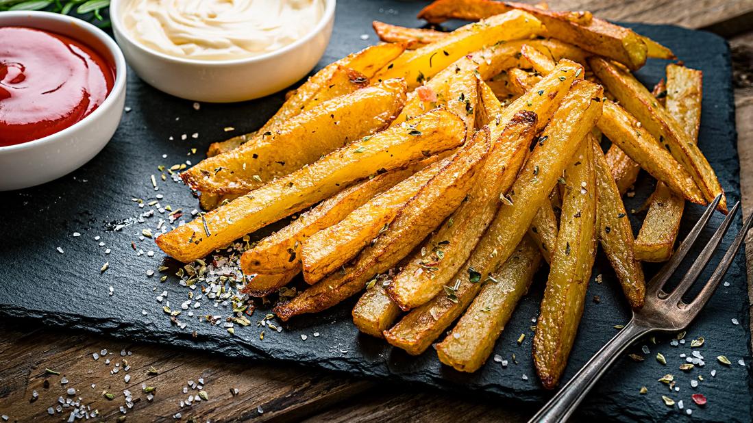
[[120,123],[126,63],[83,20],[38,11],[0,14],[0,190],[78,169]]

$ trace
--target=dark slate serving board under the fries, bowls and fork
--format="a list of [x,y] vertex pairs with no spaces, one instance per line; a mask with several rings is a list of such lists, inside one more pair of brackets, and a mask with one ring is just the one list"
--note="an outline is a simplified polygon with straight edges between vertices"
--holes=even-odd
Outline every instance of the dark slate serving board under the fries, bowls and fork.
[[[377,42],[370,29],[373,19],[422,26],[415,18],[422,5],[423,2],[340,0],[332,41],[319,67]],[[740,192],[739,161],[726,42],[709,33],[672,26],[628,25],[671,47],[688,66],[703,70],[700,147],[733,204]],[[663,77],[664,65],[664,61],[650,60],[638,76],[652,86]],[[185,160],[197,163],[210,142],[258,129],[282,104],[283,98],[283,94],[278,93],[241,104],[203,104],[200,110],[195,110],[192,102],[160,93],[132,72],[128,78],[127,106],[133,110],[123,115],[120,128],[102,153],[57,181],[28,190],[0,193],[0,221],[3,222],[0,226],[3,239],[0,315],[33,318],[51,326],[178,348],[217,351],[233,357],[290,361],[395,382],[474,391],[491,398],[505,398],[511,404],[516,401],[528,406],[543,403],[550,392],[540,388],[535,376],[530,357],[533,336],[530,327],[534,324],[532,319],[538,315],[545,270],[537,275],[531,292],[521,301],[496,345],[495,354],[508,360],[508,367],[490,359],[482,370],[470,375],[441,366],[431,349],[413,358],[403,351],[392,350],[383,341],[358,334],[350,319],[352,300],[320,315],[295,318],[282,324],[285,328],[282,333],[267,328],[264,340],[259,337],[264,328],[255,324],[236,327],[236,335],[230,336],[223,327],[200,323],[195,317],[181,317],[187,324],[184,330],[170,323],[162,311],[163,304],[157,303],[155,297],[163,290],[168,291],[167,299],[172,300],[173,308],[177,309],[186,299],[187,288],[178,286],[175,278],[160,283],[159,274],[147,275],[148,269],[157,269],[163,263],[172,268],[176,265],[163,257],[151,239],[139,239],[142,228],[154,228],[156,220],[164,215],[155,212],[145,224],[135,222],[134,218],[148,207],[138,208],[131,199],[154,199],[162,194],[161,204],[172,205],[173,210],[197,208],[197,200],[184,185],[169,178],[165,182],[160,180],[157,166],[171,166]],[[227,126],[236,129],[224,132]],[[195,132],[198,138],[191,136]],[[182,140],[181,134],[187,134],[187,139]],[[187,157],[191,148],[197,148],[197,155]],[[157,176],[158,191],[154,191],[150,175]],[[636,196],[626,199],[627,208],[639,209],[652,190],[651,178],[642,174]],[[700,212],[701,208],[695,205],[687,206],[683,235]],[[633,227],[638,228],[642,215],[636,213],[630,215],[630,219]],[[721,215],[715,215],[714,221],[718,224]],[[115,231],[114,227],[119,224],[126,226]],[[738,219],[733,227],[739,226]],[[75,232],[81,236],[73,236]],[[95,240],[96,236],[100,239]],[[99,242],[104,246],[99,246]],[[137,249],[154,251],[154,256],[136,255],[132,242]],[[724,246],[729,242],[727,237]],[[61,254],[57,247],[64,252]],[[111,249],[110,254],[105,254],[106,248]],[[105,261],[110,267],[100,274]],[[647,275],[656,269],[647,265]],[[596,283],[592,278],[590,283],[566,379],[614,335],[614,325],[624,324],[630,318],[614,272],[601,253],[593,274],[601,274],[603,282]],[[693,418],[751,421],[751,351],[742,256],[734,261],[726,281],[729,285],[719,288],[687,331],[687,343],[672,346],[669,339],[657,338],[657,345],[650,340],[636,345],[631,352],[644,355],[645,362],[636,363],[628,358],[617,361],[581,406],[581,415],[615,421],[687,419],[685,409],[678,410],[677,406],[668,407],[663,403],[661,395],[667,395],[683,400],[686,409],[694,409]],[[593,301],[596,296],[600,298],[599,303]],[[206,302],[196,314],[223,313],[216,310]],[[265,313],[261,307],[251,320],[258,321]],[[732,319],[739,324],[733,324]],[[191,336],[194,330],[195,338]],[[315,332],[320,336],[312,336]],[[521,333],[525,333],[526,338],[518,345]],[[302,334],[307,336],[305,341]],[[694,348],[703,354],[706,365],[684,373],[678,370],[678,365],[684,362],[679,355],[691,354],[689,339],[697,336],[706,339],[702,348]],[[650,353],[642,352],[644,344]],[[666,366],[655,360],[657,352],[666,357]],[[732,365],[720,364],[715,359],[718,355],[726,355]],[[743,365],[738,363],[741,359]],[[717,370],[715,377],[710,375],[711,370]],[[675,375],[680,391],[670,392],[666,385],[657,382],[666,373]],[[703,382],[699,388],[691,388],[690,380],[699,375],[703,376]],[[648,394],[639,394],[642,386],[648,387]],[[709,398],[704,408],[699,409],[692,403],[691,394],[696,392]]]

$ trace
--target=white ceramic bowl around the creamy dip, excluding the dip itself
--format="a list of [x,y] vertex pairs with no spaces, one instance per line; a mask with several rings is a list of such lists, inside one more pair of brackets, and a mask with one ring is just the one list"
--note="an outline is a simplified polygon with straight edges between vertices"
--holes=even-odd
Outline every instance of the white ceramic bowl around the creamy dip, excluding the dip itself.
[[323,0],[322,20],[308,35],[279,50],[233,60],[183,59],[136,41],[123,26],[130,0],[111,0],[110,20],[128,64],[157,90],[199,102],[241,102],[268,96],[306,76],[329,43],[336,0]]

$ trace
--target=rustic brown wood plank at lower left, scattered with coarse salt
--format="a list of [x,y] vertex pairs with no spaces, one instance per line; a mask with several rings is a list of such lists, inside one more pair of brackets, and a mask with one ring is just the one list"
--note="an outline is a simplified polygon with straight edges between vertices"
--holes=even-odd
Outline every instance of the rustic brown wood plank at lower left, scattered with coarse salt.
[[[230,421],[255,418],[258,421],[294,421],[305,418],[352,397],[369,388],[372,383],[351,377],[297,366],[248,363],[212,357],[206,354],[185,354],[171,348],[139,345],[96,336],[59,333],[48,329],[25,330],[20,322],[0,325],[0,413],[11,420],[27,421],[47,418],[47,407],[56,406],[58,397],[81,397],[81,403],[98,409],[99,415],[112,421],[123,415],[120,406],[127,406],[123,391],[133,395],[133,409],[139,419],[173,421],[180,412],[183,418]],[[103,348],[108,355],[93,359],[94,352]],[[121,351],[126,351],[121,356]],[[130,352],[130,355],[129,355]],[[109,359],[110,364],[105,364]],[[115,367],[119,365],[118,367]],[[124,368],[129,366],[129,370]],[[148,374],[154,367],[159,373]],[[60,375],[45,373],[45,368]],[[112,370],[118,372],[112,374]],[[125,382],[125,375],[130,375]],[[68,383],[61,384],[62,378]],[[209,400],[180,406],[189,395],[199,395],[200,389],[187,387],[187,381],[197,384],[203,379],[203,391]],[[45,381],[49,384],[44,388]],[[96,384],[92,387],[92,384]],[[154,387],[154,399],[149,401],[142,384]],[[183,388],[187,393],[183,393]],[[75,395],[67,390],[74,388]],[[237,388],[238,393],[231,393]],[[30,402],[32,391],[39,397]],[[114,394],[108,400],[102,393]],[[261,411],[257,407],[261,407]],[[63,409],[58,418],[68,418],[72,407]]]

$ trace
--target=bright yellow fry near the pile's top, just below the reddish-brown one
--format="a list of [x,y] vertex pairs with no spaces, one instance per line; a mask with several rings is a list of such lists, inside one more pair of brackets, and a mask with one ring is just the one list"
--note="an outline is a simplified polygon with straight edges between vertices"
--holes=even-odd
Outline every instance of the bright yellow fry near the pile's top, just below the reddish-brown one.
[[530,14],[509,11],[456,29],[447,37],[418,50],[407,51],[374,78],[405,78],[412,90],[462,56],[499,41],[530,38],[542,29],[541,22]]

